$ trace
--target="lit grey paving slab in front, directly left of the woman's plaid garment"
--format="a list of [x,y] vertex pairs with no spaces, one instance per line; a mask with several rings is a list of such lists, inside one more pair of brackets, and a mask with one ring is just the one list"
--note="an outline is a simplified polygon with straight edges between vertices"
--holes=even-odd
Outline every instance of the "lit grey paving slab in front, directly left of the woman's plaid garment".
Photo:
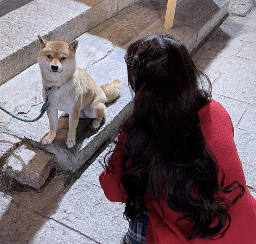
[[96,183],[103,170],[97,162],[103,160],[106,152],[108,148],[45,210],[45,215],[88,235],[97,243],[118,244],[129,226],[122,216],[124,204],[110,202]]

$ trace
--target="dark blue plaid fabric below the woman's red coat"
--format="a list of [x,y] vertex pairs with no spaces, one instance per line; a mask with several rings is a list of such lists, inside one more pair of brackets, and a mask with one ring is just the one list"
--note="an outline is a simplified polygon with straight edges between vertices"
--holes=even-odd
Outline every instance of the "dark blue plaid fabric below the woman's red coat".
[[129,244],[146,244],[147,225],[149,217],[147,212],[135,220],[130,220],[126,240]]

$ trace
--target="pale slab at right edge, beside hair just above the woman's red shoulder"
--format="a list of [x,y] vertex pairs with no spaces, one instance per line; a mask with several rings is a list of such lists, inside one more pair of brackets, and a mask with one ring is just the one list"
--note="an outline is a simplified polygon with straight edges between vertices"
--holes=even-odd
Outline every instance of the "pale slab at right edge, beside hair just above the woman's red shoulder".
[[213,92],[224,97],[256,105],[256,82],[236,75],[222,74],[213,84]]

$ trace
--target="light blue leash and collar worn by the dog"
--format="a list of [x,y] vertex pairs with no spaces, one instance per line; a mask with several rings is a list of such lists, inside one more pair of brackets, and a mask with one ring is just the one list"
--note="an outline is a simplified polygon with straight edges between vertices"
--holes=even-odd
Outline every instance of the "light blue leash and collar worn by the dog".
[[5,108],[3,108],[0,105],[0,109],[3,110],[5,113],[11,115],[12,117],[14,117],[15,119],[19,119],[23,122],[35,122],[38,119],[42,118],[42,116],[45,114],[46,110],[49,108],[49,102],[48,102],[48,95],[52,94],[54,91],[56,91],[57,89],[61,88],[61,86],[63,86],[64,84],[66,84],[68,82],[69,78],[66,78],[65,82],[63,82],[61,85],[59,86],[46,86],[45,87],[45,103],[43,104],[41,110],[40,110],[40,114],[35,118],[35,119],[25,119],[25,118],[21,118],[11,112],[9,112],[8,110],[6,110]]

